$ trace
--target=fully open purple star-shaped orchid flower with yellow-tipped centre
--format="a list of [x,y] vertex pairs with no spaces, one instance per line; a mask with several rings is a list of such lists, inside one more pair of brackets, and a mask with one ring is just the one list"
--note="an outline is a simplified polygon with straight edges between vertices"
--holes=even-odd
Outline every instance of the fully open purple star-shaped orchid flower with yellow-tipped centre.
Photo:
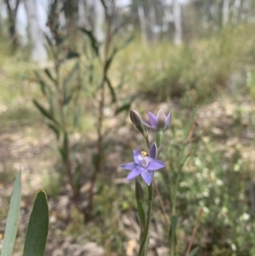
[[150,145],[149,153],[145,151],[133,151],[134,162],[127,162],[120,165],[120,167],[131,171],[127,175],[127,180],[135,179],[140,174],[147,185],[151,184],[154,171],[164,168],[166,164],[156,160],[157,148],[156,143]]

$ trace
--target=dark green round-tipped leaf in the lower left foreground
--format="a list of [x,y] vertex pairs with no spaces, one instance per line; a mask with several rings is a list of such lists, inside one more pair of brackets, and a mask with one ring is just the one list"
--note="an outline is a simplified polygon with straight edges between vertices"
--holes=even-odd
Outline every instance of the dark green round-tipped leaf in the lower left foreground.
[[37,193],[26,231],[23,256],[43,256],[48,236],[48,202],[44,191]]

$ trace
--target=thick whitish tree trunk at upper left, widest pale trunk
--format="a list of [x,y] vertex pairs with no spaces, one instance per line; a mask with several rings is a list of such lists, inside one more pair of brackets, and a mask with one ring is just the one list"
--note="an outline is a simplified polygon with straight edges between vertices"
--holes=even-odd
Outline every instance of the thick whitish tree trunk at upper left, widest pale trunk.
[[27,15],[27,32],[31,46],[30,59],[37,62],[47,60],[47,51],[44,47],[44,37],[37,20],[36,0],[24,0]]

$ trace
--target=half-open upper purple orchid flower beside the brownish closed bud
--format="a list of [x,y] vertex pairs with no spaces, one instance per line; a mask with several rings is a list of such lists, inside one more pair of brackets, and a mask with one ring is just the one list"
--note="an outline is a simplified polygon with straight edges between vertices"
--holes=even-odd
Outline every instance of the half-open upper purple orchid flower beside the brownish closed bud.
[[157,112],[157,115],[153,115],[150,111],[149,115],[149,123],[142,121],[145,128],[149,128],[151,130],[165,130],[170,123],[170,113],[167,114],[167,117],[161,109]]

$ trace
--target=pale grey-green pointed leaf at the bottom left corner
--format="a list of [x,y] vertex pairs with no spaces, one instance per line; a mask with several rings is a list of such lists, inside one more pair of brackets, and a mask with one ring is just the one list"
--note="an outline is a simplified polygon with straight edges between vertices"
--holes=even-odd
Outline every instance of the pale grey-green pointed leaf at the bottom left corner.
[[14,191],[10,200],[6,228],[3,238],[2,256],[11,256],[14,250],[14,242],[18,230],[21,201],[21,171],[14,181]]

